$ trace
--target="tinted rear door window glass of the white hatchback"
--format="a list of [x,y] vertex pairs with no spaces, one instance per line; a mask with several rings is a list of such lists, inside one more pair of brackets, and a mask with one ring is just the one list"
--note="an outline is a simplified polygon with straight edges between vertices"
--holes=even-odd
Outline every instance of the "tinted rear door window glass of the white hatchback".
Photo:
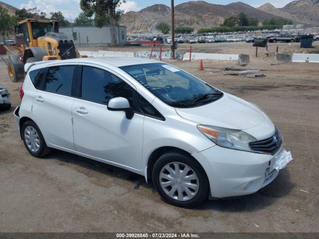
[[75,66],[53,66],[48,70],[45,91],[71,96]]

